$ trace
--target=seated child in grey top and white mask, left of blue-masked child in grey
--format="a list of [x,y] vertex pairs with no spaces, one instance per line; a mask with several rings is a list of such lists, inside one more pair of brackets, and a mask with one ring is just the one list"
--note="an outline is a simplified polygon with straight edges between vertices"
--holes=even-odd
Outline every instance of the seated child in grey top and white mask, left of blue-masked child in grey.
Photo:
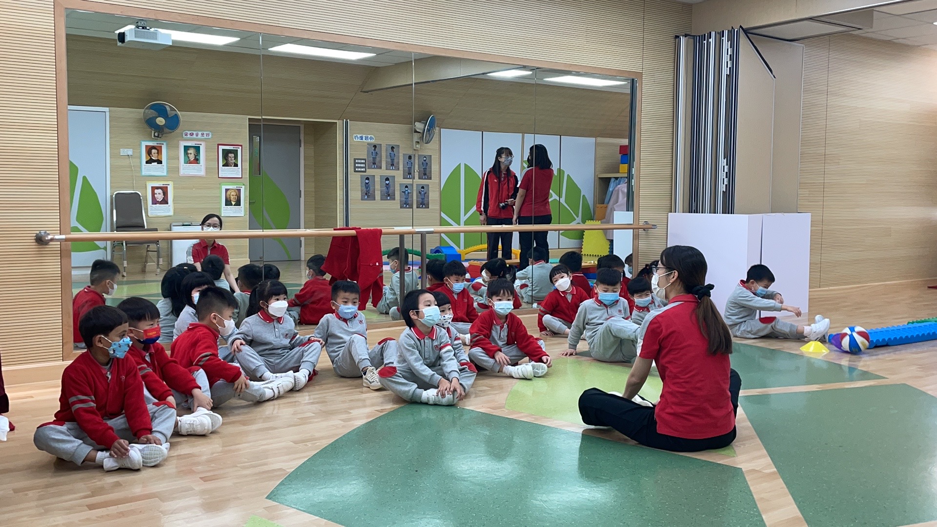
[[250,292],[247,318],[230,340],[248,377],[271,381],[289,377],[299,390],[316,374],[322,341],[300,337],[287,312],[287,288],[278,280],[263,280]]

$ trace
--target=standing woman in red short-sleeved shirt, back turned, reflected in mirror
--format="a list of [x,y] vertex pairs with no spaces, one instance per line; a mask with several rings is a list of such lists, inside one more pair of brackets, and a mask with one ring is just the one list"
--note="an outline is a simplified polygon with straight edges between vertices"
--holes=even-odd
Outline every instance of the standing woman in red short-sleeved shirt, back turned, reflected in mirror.
[[[546,225],[553,222],[550,212],[550,186],[553,185],[553,161],[543,144],[534,144],[528,154],[528,170],[521,176],[521,187],[514,203],[514,225]],[[519,233],[521,263],[523,269],[529,264],[530,249],[534,244],[550,250],[546,231]]]

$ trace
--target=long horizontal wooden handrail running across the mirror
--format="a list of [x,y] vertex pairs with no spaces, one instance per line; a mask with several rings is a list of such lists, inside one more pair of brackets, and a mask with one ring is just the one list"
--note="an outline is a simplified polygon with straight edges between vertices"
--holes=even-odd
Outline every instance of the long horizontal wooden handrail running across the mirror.
[[[657,225],[647,222],[640,225],[628,223],[589,223],[568,225],[472,225],[455,227],[401,227],[381,229],[382,235],[407,234],[445,234],[445,233],[539,233],[543,231],[647,231],[657,229]],[[269,231],[213,231],[211,239],[231,240],[244,238],[315,238],[332,236],[354,236],[355,231],[335,231],[333,229],[283,229]],[[67,233],[52,234],[46,231],[36,233],[36,243],[49,245],[52,242],[133,242],[147,240],[191,240],[204,238],[203,231],[144,231],[121,233]]]

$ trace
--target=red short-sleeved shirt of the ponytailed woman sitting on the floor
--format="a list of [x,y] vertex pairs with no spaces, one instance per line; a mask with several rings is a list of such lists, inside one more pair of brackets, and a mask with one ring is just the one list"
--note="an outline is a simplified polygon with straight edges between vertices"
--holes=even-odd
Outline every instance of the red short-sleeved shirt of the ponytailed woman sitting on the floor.
[[706,439],[736,426],[729,397],[729,355],[711,355],[696,322],[699,300],[671,298],[648,315],[638,356],[653,360],[661,374],[661,401],[654,409],[657,431],[683,439]]

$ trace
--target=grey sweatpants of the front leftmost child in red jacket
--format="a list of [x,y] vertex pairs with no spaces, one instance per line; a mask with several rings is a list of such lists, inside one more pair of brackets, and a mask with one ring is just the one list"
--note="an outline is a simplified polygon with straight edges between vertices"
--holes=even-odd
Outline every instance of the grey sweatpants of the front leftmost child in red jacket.
[[[159,406],[148,404],[147,410],[150,411],[150,420],[153,422],[153,435],[158,437],[163,444],[168,443],[172,429],[175,427],[175,409],[166,404]],[[126,415],[105,419],[104,422],[114,430],[117,437],[126,439],[130,443],[137,441],[126,423]],[[36,444],[36,447],[43,452],[49,452],[56,458],[67,459],[76,465],[81,465],[85,456],[92,450],[111,448],[110,444],[96,444],[74,421],[64,425],[39,427],[33,434],[33,444]]]

